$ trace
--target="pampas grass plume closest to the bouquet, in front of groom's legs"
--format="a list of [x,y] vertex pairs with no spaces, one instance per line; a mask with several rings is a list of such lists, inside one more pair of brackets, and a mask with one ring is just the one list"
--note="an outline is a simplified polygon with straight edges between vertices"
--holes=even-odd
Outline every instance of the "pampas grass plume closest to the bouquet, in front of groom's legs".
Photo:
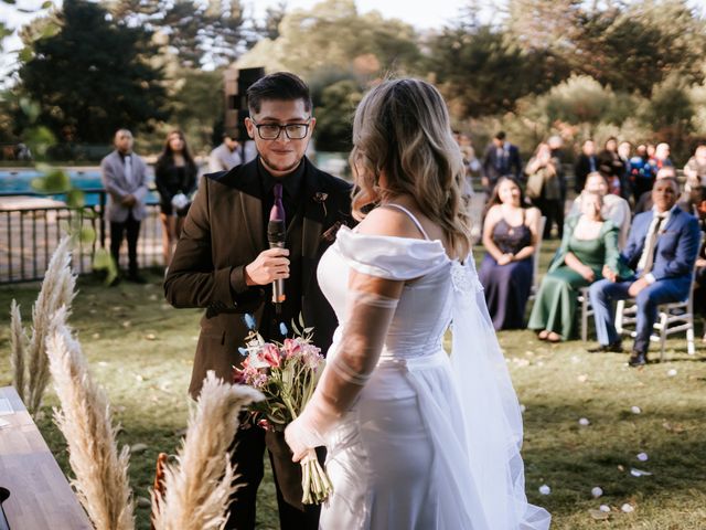
[[152,491],[152,522],[157,530],[223,528],[235,492],[235,469],[228,448],[238,426],[238,412],[263,394],[233,385],[210,371],[176,456],[164,469],[164,496]]

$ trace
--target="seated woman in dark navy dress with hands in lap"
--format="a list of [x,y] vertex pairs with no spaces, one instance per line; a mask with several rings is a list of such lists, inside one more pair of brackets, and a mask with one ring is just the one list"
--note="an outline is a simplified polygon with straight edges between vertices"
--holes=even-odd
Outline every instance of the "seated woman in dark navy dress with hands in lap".
[[527,208],[517,181],[502,177],[489,201],[483,224],[488,254],[478,273],[495,329],[524,327],[538,221],[539,210]]

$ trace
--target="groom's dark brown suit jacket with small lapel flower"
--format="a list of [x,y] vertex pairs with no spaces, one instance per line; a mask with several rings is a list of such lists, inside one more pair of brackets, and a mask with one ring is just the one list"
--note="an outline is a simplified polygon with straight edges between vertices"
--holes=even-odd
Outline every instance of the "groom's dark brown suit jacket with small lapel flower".
[[[268,247],[257,163],[256,159],[201,179],[164,279],[171,305],[206,309],[189,388],[194,398],[207,370],[231,380],[233,367],[243,360],[238,347],[248,333],[243,315],[250,312],[259,322],[271,296],[269,286],[248,287],[244,276],[245,266]],[[301,223],[292,231],[300,239],[287,246],[292,255],[301,255],[301,314],[314,328],[313,342],[325,353],[338,322],[319,289],[315,269],[338,227],[352,222],[351,184],[306,158],[303,163],[303,215],[291,221]]]

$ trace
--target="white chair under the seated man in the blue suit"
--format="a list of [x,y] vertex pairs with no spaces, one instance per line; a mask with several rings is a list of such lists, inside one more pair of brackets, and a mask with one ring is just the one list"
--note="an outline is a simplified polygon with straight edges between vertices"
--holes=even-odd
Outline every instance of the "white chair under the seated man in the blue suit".
[[[694,346],[694,286],[696,278],[696,268],[692,273],[692,287],[688,293],[688,298],[682,301],[673,301],[670,304],[662,304],[657,307],[657,319],[654,321],[653,332],[650,336],[652,342],[660,342],[660,361],[664,361],[666,338],[670,335],[680,333],[686,331],[686,351],[689,356],[696,352]],[[629,307],[625,307],[625,301],[631,301]],[[616,331],[618,335],[629,332],[631,337],[635,337],[635,331],[625,330],[625,325],[634,326],[638,321],[637,318],[638,307],[634,303],[634,298],[629,300],[618,300],[616,306]]]

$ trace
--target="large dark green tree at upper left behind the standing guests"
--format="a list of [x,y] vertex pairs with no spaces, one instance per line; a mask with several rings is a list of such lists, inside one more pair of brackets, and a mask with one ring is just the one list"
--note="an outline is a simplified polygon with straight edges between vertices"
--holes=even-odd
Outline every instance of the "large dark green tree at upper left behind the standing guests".
[[19,91],[60,141],[108,142],[120,127],[149,129],[168,117],[147,30],[116,24],[86,0],[65,0],[57,18],[61,31],[35,41],[20,68]]

